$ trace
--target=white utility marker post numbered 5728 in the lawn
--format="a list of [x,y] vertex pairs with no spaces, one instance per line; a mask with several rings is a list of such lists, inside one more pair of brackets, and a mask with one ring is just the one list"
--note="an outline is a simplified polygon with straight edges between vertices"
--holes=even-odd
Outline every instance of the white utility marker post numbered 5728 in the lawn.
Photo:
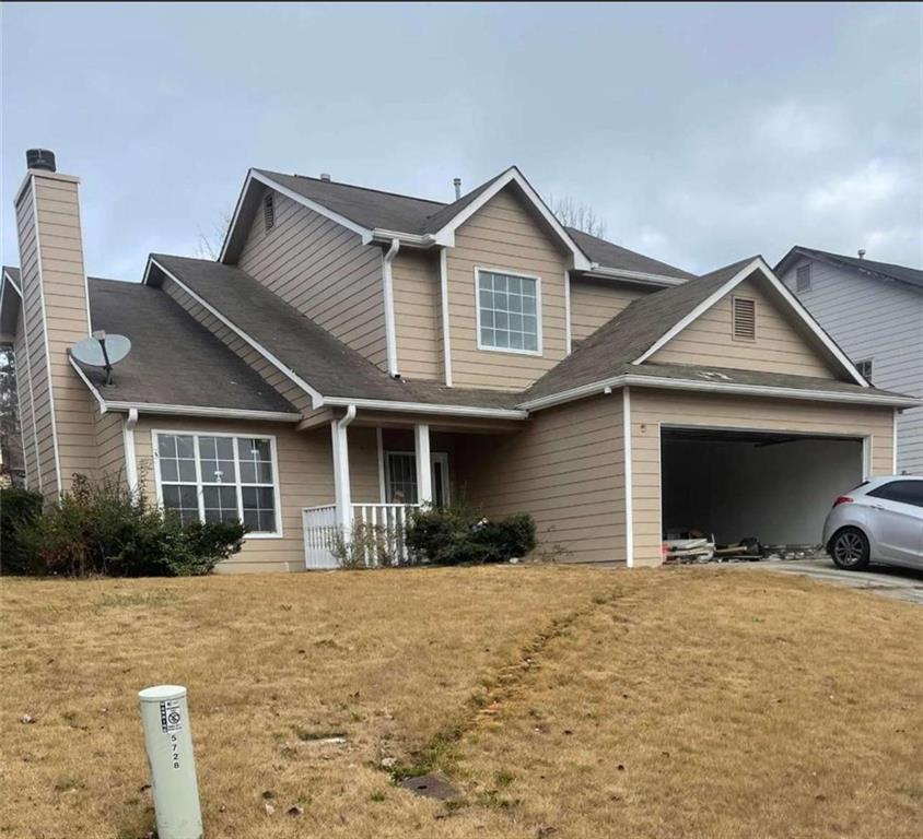
[[159,839],[202,839],[199,785],[186,688],[145,687],[138,694],[151,767]]

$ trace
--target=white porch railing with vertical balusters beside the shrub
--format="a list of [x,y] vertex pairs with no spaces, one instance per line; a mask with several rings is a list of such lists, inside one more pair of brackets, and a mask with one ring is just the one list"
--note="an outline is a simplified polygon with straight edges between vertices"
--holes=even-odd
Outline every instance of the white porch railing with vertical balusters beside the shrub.
[[[407,562],[407,517],[416,504],[353,504],[352,531],[361,537],[358,550],[369,567],[399,565]],[[334,553],[337,534],[337,506],[305,507],[302,510],[304,524],[304,564],[308,570],[338,568]],[[360,535],[361,534],[361,535]],[[351,535],[351,534],[349,534]],[[348,534],[343,533],[347,537]]]

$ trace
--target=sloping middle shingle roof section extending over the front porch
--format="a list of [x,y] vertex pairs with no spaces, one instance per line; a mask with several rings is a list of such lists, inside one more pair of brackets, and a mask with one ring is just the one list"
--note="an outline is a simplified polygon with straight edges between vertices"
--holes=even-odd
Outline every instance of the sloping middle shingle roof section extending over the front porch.
[[233,265],[152,255],[157,263],[324,397],[513,407],[517,394],[394,379]]

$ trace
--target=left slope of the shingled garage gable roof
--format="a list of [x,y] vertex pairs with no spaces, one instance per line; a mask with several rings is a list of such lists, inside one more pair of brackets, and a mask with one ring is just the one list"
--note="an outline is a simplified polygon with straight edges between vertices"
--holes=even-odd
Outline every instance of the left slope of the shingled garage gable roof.
[[753,259],[741,259],[698,280],[639,297],[536,381],[526,398],[538,399],[619,375],[622,365],[642,355]]

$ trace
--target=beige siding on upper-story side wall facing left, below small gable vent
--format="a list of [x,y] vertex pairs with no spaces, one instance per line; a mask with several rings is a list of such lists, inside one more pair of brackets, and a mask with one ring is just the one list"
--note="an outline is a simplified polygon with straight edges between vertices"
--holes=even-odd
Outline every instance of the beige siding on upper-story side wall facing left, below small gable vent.
[[381,248],[285,196],[273,201],[276,224],[266,231],[260,203],[237,264],[385,369]]

